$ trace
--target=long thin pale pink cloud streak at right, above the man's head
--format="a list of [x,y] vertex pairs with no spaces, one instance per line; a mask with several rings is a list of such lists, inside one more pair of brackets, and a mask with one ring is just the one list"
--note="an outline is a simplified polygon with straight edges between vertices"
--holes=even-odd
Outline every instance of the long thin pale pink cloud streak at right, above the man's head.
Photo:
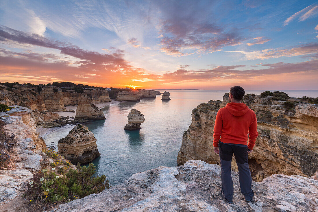
[[318,52],[318,43],[311,43],[299,47],[292,47],[290,49],[264,49],[260,51],[227,51],[227,52],[239,52],[245,55],[248,60],[256,59],[269,59],[279,57],[292,57],[299,55],[315,54]]

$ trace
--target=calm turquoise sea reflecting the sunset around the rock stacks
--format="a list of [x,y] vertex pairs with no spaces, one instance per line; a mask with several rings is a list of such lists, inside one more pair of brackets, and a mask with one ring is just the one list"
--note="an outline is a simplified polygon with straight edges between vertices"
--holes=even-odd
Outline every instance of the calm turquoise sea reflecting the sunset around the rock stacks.
[[[163,92],[163,91],[162,91]],[[169,91],[171,100],[142,99],[140,102],[120,102],[110,104],[102,110],[106,120],[85,123],[97,139],[100,157],[93,161],[99,175],[106,174],[111,185],[124,182],[132,174],[158,166],[176,166],[182,134],[191,123],[191,110],[200,103],[222,100],[228,92],[222,91]],[[263,90],[246,90],[260,94]],[[318,90],[287,90],[291,97],[317,97]],[[142,129],[125,131],[127,115],[137,109],[145,116]],[[61,128],[45,136],[49,145],[57,144],[71,128]]]

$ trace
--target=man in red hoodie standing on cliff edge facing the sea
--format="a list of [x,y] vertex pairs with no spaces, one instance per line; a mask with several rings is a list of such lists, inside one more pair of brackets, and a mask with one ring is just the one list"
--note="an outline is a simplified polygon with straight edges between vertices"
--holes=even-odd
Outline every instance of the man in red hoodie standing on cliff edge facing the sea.
[[[244,200],[252,201],[254,195],[251,188],[252,177],[248,167],[247,154],[253,151],[258,136],[257,121],[254,111],[241,102],[244,94],[245,90],[242,87],[232,87],[229,103],[218,110],[214,124],[214,152],[220,153],[222,177],[220,194],[228,203],[233,203],[233,181],[231,177],[233,154],[239,168],[239,184]],[[247,139],[248,145],[246,145]]]

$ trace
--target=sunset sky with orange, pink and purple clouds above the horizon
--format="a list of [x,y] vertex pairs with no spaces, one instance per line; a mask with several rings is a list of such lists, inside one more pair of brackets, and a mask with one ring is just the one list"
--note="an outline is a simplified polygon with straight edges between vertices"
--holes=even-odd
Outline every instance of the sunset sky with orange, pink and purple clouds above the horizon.
[[0,4],[1,82],[318,89],[317,1]]

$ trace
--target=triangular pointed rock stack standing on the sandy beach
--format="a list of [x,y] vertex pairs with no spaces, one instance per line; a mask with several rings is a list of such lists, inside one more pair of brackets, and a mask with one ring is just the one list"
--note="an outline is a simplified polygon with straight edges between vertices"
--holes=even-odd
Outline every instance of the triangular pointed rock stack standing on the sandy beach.
[[105,115],[88,96],[81,96],[76,109],[75,119],[103,120]]

